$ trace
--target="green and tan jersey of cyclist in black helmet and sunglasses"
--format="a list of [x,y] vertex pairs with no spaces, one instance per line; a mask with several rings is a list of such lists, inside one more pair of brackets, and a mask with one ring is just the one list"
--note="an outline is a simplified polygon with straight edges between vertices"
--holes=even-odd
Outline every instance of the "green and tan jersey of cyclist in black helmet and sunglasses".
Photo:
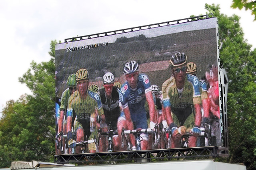
[[[171,76],[163,83],[162,92],[164,107],[171,107],[172,113],[178,119],[175,121],[175,118],[174,123],[192,127],[194,125],[194,105],[202,103],[198,78],[187,74],[184,87],[178,89],[176,87],[175,78]],[[188,121],[188,119],[190,119],[190,121]]]

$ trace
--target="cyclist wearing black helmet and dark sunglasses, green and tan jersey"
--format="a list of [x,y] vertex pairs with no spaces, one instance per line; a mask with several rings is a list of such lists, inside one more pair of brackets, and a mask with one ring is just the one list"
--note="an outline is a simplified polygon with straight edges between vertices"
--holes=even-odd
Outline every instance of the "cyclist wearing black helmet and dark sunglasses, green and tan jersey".
[[[180,147],[178,127],[183,126],[200,133],[202,120],[200,87],[196,76],[186,74],[186,62],[187,56],[184,53],[179,51],[174,53],[170,59],[172,76],[162,85],[166,120],[172,132],[172,148]],[[188,147],[195,147],[196,139],[196,136],[190,136]]]

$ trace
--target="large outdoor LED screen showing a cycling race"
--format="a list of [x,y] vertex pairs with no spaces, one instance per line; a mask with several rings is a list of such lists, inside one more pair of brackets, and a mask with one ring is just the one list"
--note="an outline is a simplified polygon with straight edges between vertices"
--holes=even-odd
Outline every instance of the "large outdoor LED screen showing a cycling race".
[[221,146],[216,18],[56,45],[56,154]]

